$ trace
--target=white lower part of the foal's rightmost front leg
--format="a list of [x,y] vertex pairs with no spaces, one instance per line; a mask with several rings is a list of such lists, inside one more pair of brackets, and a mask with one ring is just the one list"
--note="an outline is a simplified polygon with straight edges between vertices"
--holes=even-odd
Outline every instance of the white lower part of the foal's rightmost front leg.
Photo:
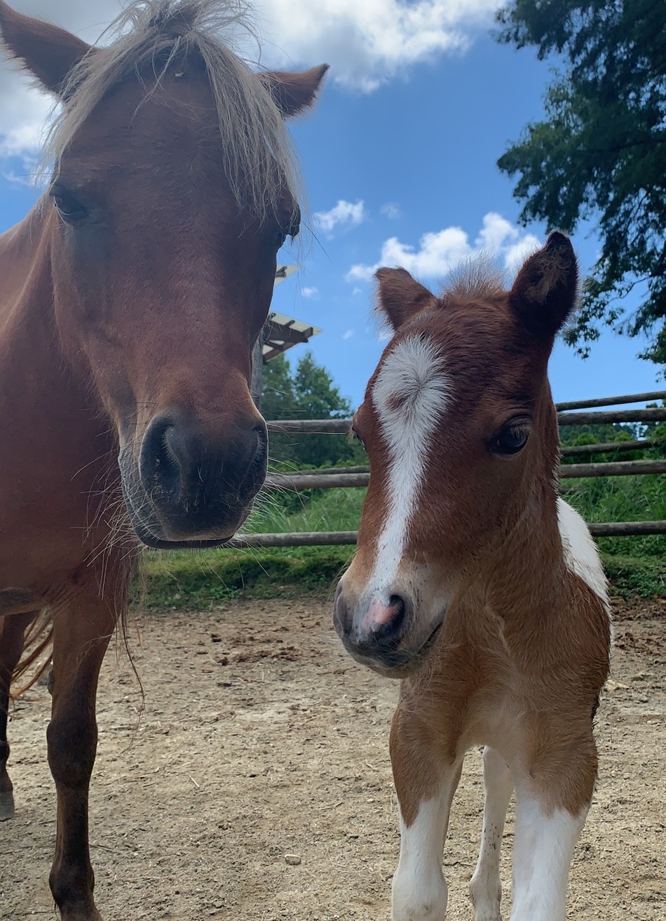
[[546,815],[536,799],[519,793],[511,921],[565,921],[568,870],[587,811]]

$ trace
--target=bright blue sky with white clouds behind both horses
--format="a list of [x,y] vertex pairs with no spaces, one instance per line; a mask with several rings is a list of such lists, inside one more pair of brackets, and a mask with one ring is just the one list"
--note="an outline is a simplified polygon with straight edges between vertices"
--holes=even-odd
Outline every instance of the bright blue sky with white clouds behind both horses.
[[[276,289],[273,309],[322,328],[310,347],[356,404],[383,347],[372,317],[374,266],[404,264],[436,290],[447,266],[470,251],[489,243],[504,264],[544,239],[544,227],[517,227],[512,183],[496,161],[540,117],[549,68],[489,37],[490,0],[259,2],[267,66],[331,64],[316,110],[293,123],[312,234],[282,252],[301,267]],[[118,0],[15,6],[88,41],[119,9]],[[3,68],[0,230],[35,200],[21,180],[47,108]],[[585,271],[597,251],[593,225],[580,227],[574,243]],[[558,343],[556,399],[660,388],[658,369],[636,357],[641,345],[605,332],[583,361]],[[299,346],[290,356],[302,353]]]

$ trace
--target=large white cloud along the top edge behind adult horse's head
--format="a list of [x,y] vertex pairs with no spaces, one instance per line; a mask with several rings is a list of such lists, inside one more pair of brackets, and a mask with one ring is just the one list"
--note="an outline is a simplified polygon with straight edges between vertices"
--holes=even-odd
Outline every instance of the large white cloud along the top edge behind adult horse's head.
[[[437,56],[465,50],[498,0],[256,0],[262,64],[298,68],[327,62],[339,84],[370,92]],[[12,0],[20,13],[49,19],[97,41],[122,0]],[[0,62],[0,156],[6,145],[34,153],[51,102],[16,68]]]

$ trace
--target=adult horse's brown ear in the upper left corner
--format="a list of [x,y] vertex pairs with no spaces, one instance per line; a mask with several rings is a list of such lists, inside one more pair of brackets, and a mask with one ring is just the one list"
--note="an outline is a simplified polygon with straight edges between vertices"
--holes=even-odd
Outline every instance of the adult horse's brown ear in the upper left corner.
[[0,0],[0,38],[9,56],[57,95],[75,64],[90,51],[90,45],[66,29],[23,16],[4,0]]

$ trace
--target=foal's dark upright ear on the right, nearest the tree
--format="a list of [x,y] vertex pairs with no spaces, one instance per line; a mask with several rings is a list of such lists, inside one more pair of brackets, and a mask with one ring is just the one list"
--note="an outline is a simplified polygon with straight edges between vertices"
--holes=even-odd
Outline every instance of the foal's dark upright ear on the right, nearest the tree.
[[509,293],[509,303],[529,332],[548,339],[567,320],[577,294],[576,253],[568,237],[556,230],[545,247],[522,266]]

